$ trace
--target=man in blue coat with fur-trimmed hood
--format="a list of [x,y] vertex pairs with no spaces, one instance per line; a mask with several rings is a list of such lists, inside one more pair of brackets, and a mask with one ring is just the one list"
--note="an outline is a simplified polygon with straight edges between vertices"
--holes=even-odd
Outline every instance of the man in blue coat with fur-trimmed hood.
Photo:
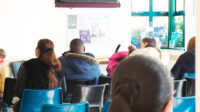
[[64,52],[59,60],[66,80],[94,80],[94,84],[98,83],[101,74],[99,65],[93,54],[85,53],[82,40],[73,39],[70,43],[70,51]]

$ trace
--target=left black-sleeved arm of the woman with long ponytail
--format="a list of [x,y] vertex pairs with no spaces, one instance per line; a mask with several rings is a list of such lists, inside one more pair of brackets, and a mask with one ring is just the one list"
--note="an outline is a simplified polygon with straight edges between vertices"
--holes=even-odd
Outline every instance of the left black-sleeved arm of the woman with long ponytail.
[[15,86],[16,96],[22,98],[23,91],[25,89],[26,82],[26,68],[24,65],[21,65],[18,73],[17,73],[17,81]]

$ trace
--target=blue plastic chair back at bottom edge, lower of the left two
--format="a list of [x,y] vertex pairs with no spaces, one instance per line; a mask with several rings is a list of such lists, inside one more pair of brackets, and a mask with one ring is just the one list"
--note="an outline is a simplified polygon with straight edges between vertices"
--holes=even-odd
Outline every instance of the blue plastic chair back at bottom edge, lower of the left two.
[[89,112],[88,101],[74,104],[43,104],[41,112]]

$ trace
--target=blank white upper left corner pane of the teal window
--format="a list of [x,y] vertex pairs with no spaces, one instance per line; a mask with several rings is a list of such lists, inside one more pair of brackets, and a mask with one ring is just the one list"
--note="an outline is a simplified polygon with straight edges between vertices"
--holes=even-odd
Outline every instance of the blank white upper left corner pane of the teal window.
[[132,11],[149,11],[149,0],[132,0]]

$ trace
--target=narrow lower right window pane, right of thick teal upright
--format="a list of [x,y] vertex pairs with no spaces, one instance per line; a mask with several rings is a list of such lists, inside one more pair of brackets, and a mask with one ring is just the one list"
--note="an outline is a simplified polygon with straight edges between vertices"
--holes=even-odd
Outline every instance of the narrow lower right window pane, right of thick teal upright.
[[184,47],[184,37],[183,37],[183,16],[176,16],[175,17],[175,31],[172,32],[171,39],[170,39],[170,48],[179,48]]

